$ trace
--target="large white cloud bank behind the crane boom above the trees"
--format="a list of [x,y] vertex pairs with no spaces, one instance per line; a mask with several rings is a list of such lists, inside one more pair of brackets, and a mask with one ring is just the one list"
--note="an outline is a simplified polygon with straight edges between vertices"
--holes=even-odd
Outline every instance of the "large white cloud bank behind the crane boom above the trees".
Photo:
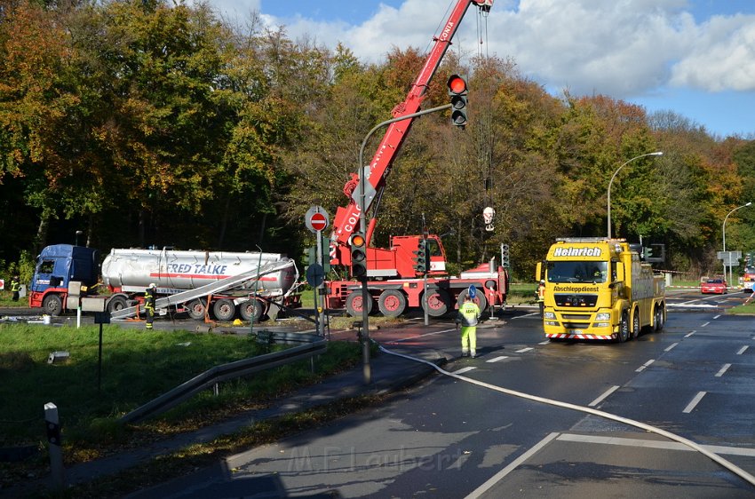
[[[213,0],[242,15],[259,0]],[[427,0],[380,4],[361,25],[264,15],[290,37],[308,36],[335,47],[343,42],[363,61],[383,59],[393,46],[424,50],[448,12]],[[445,7],[445,5],[443,5]],[[264,12],[263,12],[264,13]],[[469,8],[452,50],[472,57],[479,44]],[[619,99],[658,87],[703,91],[755,90],[755,16],[716,16],[695,23],[687,0],[497,0],[487,19],[483,51],[512,57],[521,72],[555,90],[604,93]]]

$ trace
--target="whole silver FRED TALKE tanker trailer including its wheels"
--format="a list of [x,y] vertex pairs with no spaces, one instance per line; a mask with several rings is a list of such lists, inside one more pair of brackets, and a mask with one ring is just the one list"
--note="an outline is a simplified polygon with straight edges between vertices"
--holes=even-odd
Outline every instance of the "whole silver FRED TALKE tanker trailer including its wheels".
[[219,321],[237,314],[259,321],[271,303],[298,305],[298,295],[292,293],[298,270],[280,253],[112,249],[101,275],[112,293],[107,309],[114,318],[137,313],[153,283],[158,310],[175,306],[193,319],[211,312]]

